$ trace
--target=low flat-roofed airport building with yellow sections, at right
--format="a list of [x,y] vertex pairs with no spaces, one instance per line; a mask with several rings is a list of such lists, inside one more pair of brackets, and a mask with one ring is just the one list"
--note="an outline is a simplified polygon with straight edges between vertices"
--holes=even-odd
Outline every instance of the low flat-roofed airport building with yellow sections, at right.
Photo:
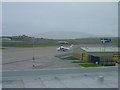
[[120,61],[118,47],[76,47],[73,55],[80,60],[87,60],[98,64],[115,64]]

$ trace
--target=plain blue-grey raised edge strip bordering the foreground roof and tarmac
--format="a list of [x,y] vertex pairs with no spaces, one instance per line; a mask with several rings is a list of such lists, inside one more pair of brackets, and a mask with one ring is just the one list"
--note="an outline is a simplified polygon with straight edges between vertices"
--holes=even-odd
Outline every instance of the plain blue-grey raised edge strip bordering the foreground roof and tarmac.
[[40,70],[14,70],[2,71],[3,77],[10,76],[33,76],[33,75],[55,75],[55,74],[74,74],[74,73],[95,73],[95,72],[118,72],[117,66],[112,67],[80,67],[80,68],[59,68],[59,69],[40,69]]

